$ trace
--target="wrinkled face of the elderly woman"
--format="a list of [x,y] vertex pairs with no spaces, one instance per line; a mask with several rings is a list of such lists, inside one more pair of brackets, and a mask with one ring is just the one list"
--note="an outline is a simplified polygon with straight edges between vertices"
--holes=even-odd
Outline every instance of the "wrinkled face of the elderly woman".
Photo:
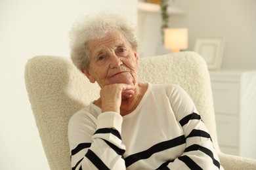
[[83,71],[90,82],[98,82],[100,88],[108,84],[137,83],[137,51],[117,29],[102,39],[89,41],[89,68]]

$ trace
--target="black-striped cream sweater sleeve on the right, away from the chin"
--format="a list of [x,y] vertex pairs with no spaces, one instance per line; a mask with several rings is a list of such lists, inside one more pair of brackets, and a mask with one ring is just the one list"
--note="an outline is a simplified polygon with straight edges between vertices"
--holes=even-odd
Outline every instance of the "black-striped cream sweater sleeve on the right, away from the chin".
[[186,148],[165,169],[222,169],[211,136],[198,114],[192,99],[177,87],[171,95],[171,106],[184,131]]

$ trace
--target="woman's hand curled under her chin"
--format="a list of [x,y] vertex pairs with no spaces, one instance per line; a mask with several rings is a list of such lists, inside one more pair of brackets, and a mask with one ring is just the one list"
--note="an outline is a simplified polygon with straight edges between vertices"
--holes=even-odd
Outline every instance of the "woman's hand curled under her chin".
[[110,84],[100,90],[102,112],[113,111],[120,113],[122,99],[132,97],[135,87],[129,84]]

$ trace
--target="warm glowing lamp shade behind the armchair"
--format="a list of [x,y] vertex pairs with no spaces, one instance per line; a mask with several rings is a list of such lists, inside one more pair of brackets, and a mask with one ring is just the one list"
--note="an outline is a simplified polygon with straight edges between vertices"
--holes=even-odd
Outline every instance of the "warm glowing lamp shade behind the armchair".
[[164,32],[165,48],[179,52],[188,48],[188,29],[167,28]]

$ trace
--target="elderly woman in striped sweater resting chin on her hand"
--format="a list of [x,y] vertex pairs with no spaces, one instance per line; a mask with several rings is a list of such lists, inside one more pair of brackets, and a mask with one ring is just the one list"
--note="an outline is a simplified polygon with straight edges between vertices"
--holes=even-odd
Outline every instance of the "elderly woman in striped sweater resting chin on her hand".
[[70,119],[72,169],[222,169],[188,94],[137,82],[132,24],[115,14],[87,16],[71,37],[72,61],[101,88]]

